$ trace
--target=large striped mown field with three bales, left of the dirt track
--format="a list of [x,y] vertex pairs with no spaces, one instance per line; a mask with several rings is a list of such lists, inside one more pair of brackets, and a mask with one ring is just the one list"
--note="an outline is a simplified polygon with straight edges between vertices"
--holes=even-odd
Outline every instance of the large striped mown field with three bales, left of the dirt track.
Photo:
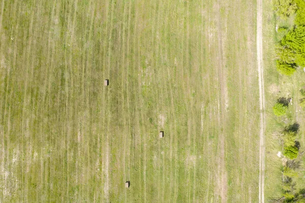
[[1,202],[258,202],[256,1],[0,9]]

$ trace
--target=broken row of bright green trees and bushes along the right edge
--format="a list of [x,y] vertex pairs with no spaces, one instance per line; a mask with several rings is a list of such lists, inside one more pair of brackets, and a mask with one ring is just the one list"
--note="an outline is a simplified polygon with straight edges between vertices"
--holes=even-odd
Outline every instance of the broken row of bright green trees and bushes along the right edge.
[[[302,71],[305,67],[305,1],[273,0],[273,10],[280,19],[294,19],[294,25],[289,31],[286,25],[277,27],[278,33],[285,34],[276,46],[277,69],[281,74],[290,77],[293,74],[300,74],[297,71]],[[304,88],[300,90],[300,94],[305,96]],[[304,107],[304,100],[304,98],[299,100],[300,107]],[[280,97],[273,106],[273,113],[277,116],[277,120],[279,122],[288,120],[291,124],[286,125],[279,133],[284,155],[282,158],[283,196],[273,198],[272,202],[305,202],[305,190],[295,189],[296,183],[294,179],[298,177],[297,170],[300,167],[300,156],[302,156],[303,152],[299,153],[300,143],[296,140],[299,124],[287,116],[290,104],[292,104],[292,98]],[[278,153],[278,156],[281,157],[281,153]]]

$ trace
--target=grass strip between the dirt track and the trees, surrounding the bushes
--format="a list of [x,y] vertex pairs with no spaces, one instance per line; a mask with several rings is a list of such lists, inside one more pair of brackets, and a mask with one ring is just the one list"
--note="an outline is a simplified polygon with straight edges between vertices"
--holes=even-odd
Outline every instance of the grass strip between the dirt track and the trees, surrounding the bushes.
[[[280,198],[283,196],[282,189],[282,170],[283,157],[279,158],[277,153],[283,151],[283,143],[279,134],[287,125],[298,123],[299,133],[297,140],[300,142],[299,152],[305,150],[305,114],[304,109],[299,106],[301,95],[299,90],[305,85],[305,73],[298,69],[297,72],[289,77],[279,74],[276,70],[276,53],[275,45],[279,42],[284,34],[277,33],[276,27],[293,26],[293,17],[287,20],[281,20],[272,12],[271,2],[264,2],[264,62],[265,62],[265,89],[266,89],[266,113],[267,113],[267,129],[266,129],[266,172],[265,172],[265,193],[266,199]],[[273,114],[272,106],[275,105],[280,97],[292,98],[289,105],[287,116],[277,118]],[[300,168],[297,170],[298,177],[294,178],[296,183],[295,189],[305,188],[305,157],[299,156]]]

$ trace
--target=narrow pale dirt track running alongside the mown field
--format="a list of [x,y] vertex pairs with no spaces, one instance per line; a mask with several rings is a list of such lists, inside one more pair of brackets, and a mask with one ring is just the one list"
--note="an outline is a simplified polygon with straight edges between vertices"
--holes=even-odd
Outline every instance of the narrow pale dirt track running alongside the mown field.
[[265,172],[265,148],[264,148],[264,125],[265,125],[265,93],[263,71],[263,44],[262,44],[262,0],[257,0],[257,63],[259,83],[259,108],[260,108],[260,147],[259,147],[259,202],[264,202],[264,172]]

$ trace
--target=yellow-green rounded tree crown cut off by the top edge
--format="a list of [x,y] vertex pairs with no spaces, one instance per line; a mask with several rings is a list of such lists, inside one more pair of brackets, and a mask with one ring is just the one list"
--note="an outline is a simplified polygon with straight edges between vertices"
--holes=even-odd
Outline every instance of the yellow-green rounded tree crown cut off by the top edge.
[[295,13],[297,5],[293,0],[273,0],[273,10],[280,18],[286,19]]

